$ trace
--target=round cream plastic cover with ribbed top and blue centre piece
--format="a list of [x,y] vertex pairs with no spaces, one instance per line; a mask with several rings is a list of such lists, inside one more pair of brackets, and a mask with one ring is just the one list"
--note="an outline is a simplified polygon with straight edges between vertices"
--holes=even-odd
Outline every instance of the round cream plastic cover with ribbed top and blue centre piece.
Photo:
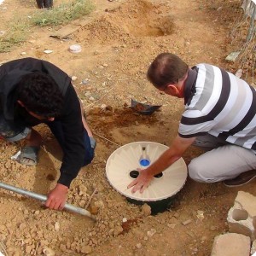
[[143,193],[131,193],[131,189],[127,189],[137,168],[146,168],[141,163],[145,159],[153,163],[166,149],[163,144],[151,142],[129,143],[116,149],[106,165],[108,182],[120,194],[137,201],[160,201],[176,195],[187,179],[187,166],[182,158],[162,172],[163,175],[154,177]]

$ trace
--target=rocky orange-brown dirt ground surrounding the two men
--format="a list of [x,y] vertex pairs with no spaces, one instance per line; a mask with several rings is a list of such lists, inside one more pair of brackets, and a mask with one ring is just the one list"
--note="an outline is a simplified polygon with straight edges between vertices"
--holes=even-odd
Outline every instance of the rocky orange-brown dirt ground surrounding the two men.
[[[55,6],[60,2],[55,1]],[[172,207],[151,215],[147,206],[131,204],[111,187],[105,166],[121,145],[136,141],[169,145],[176,136],[183,100],[161,94],[145,77],[156,55],[168,51],[190,66],[209,62],[236,72],[237,65],[224,59],[235,49],[229,34],[236,13],[241,12],[239,2],[94,0],[95,11],[84,17],[88,22],[68,37],[51,37],[68,26],[60,31],[35,28],[25,44],[0,54],[1,63],[41,58],[73,77],[97,141],[93,163],[79,172],[68,194],[68,203],[74,206],[89,204],[87,210],[96,215],[96,222],[73,212],[50,211],[40,201],[1,189],[0,251],[5,256],[211,254],[214,237],[228,231],[227,212],[237,191],[256,195],[255,182],[228,189],[222,183],[195,183],[188,177]],[[33,9],[33,2],[5,0],[0,5],[0,30],[8,29],[14,15],[25,16]],[[70,53],[72,44],[80,44],[82,51]],[[45,49],[53,52],[45,54]],[[129,108],[131,99],[162,107],[144,116]],[[0,178],[46,195],[59,176],[61,149],[46,127],[38,126],[38,131],[44,148],[36,167],[10,159],[20,144],[0,142]],[[183,159],[189,164],[199,154],[198,149],[189,148]]]

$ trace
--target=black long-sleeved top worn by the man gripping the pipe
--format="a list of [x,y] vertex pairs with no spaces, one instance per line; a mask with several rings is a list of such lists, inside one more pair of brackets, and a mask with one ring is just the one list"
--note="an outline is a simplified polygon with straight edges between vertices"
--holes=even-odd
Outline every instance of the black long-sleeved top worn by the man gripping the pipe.
[[38,125],[42,121],[33,118],[25,108],[19,107],[15,100],[15,87],[22,75],[32,72],[47,73],[58,84],[64,96],[61,115],[54,122],[60,121],[65,143],[61,177],[58,183],[69,186],[73,178],[84,165],[84,125],[82,123],[79,98],[71,84],[71,79],[60,68],[48,61],[24,58],[9,61],[0,67],[0,111],[8,121],[25,126]]

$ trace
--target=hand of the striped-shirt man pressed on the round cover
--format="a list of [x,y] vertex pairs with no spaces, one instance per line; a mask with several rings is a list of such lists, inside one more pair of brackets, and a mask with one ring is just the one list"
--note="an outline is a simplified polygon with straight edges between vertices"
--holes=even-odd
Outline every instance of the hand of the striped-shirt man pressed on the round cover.
[[148,174],[146,170],[138,170],[138,172],[139,176],[137,179],[131,182],[127,187],[128,189],[133,187],[131,193],[135,193],[137,190],[140,190],[140,193],[143,193],[143,191],[148,188],[148,185],[153,178],[153,176]]

